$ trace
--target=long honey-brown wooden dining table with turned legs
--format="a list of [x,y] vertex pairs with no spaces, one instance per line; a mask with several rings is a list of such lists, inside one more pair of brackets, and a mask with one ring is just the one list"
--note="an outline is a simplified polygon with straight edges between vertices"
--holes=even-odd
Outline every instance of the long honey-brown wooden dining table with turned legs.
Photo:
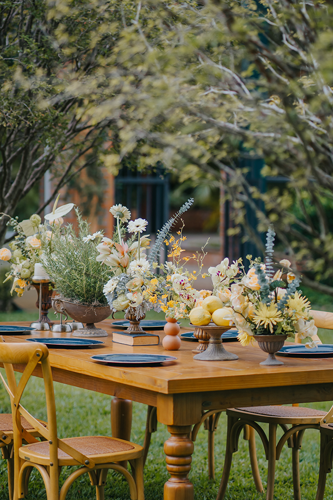
[[[262,366],[259,363],[267,353],[258,345],[243,347],[236,341],[225,343],[225,347],[239,359],[199,361],[193,359],[194,342],[182,341],[178,351],[166,351],[162,341],[159,345],[128,346],[112,342],[112,331],[120,330],[112,328],[110,320],[102,321],[99,326],[108,332],[107,337],[100,338],[104,342],[100,346],[49,349],[53,379],[116,396],[120,402],[138,401],[157,408],[157,420],[166,424],[170,433],[164,443],[170,474],[164,485],[164,500],[194,498],[193,484],[188,478],[194,449],[189,435],[204,411],[333,399],[333,358],[283,357],[280,359],[284,365]],[[182,328],[181,332],[189,330]],[[158,334],[162,340],[163,331]],[[5,335],[4,340],[19,342],[45,336],[69,337],[71,333],[32,331],[28,336]],[[107,366],[90,358],[94,354],[138,352],[170,354],[177,359],[160,366]],[[23,367],[14,368],[22,371]],[[34,374],[41,376],[41,370]],[[115,405],[112,418],[120,420],[121,411],[121,404]]]

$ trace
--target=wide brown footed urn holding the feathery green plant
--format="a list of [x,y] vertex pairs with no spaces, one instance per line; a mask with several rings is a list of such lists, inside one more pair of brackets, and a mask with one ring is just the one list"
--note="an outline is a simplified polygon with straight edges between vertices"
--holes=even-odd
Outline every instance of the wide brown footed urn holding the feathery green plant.
[[59,299],[62,308],[68,316],[86,323],[84,328],[74,330],[72,335],[75,337],[106,337],[107,332],[102,328],[96,328],[94,323],[103,321],[111,314],[111,309],[108,305],[103,307],[93,307],[91,305],[81,305],[69,302],[68,300]]

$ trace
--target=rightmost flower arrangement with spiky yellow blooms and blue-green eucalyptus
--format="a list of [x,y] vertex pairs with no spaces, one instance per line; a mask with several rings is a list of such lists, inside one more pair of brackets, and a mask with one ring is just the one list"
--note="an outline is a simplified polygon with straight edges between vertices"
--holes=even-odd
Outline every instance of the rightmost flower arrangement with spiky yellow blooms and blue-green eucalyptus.
[[[310,301],[298,290],[300,279],[291,268],[288,259],[280,260],[281,269],[273,269],[275,232],[272,227],[267,233],[267,263],[252,260],[250,269],[241,272],[238,281],[230,286],[227,294],[232,309],[230,319],[239,330],[243,345],[258,339],[259,335],[286,334],[308,338],[307,347],[317,347],[312,340],[317,334],[315,321],[311,316]],[[283,279],[285,275],[285,279]]]

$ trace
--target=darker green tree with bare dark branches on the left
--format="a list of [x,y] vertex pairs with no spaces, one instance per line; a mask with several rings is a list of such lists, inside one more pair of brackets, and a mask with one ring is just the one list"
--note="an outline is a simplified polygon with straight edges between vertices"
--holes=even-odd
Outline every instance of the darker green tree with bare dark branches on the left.
[[[87,100],[73,89],[98,78],[122,15],[116,1],[0,2],[0,212],[12,215],[50,169],[55,189],[40,212],[82,168],[101,165],[100,150],[116,148],[113,117],[86,119],[82,110],[94,95]],[[6,221],[0,219],[2,241]]]

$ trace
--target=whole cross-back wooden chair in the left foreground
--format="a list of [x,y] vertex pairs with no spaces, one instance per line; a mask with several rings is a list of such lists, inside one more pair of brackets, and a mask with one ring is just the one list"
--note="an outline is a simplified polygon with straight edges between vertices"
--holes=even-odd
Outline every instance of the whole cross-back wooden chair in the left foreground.
[[[1,338],[2,342],[3,339]],[[90,482],[96,486],[97,500],[104,500],[104,485],[108,469],[124,475],[128,482],[132,500],[144,500],[143,448],[138,444],[108,436],[84,436],[59,439],[57,436],[55,400],[48,349],[38,343],[1,343],[0,362],[3,363],[7,389],[12,410],[14,448],[14,493],[13,497],[24,498],[28,477],[36,468],[44,481],[47,500],[64,500],[69,487],[83,473],[88,473]],[[16,385],[12,364],[26,365]],[[41,364],[44,379],[47,427],[36,420],[21,404],[21,396],[37,364]],[[20,424],[23,416],[45,441],[38,441]],[[22,445],[25,440],[28,444]],[[118,463],[129,460],[132,474]],[[64,465],[81,465],[64,481],[59,492],[59,474]]]

